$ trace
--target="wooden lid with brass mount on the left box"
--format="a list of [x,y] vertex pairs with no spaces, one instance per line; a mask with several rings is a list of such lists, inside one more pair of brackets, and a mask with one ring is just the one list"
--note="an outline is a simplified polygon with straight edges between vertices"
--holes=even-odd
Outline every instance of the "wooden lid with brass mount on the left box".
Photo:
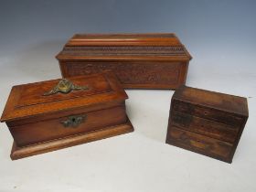
[[10,92],[1,122],[127,98],[111,72],[17,85]]

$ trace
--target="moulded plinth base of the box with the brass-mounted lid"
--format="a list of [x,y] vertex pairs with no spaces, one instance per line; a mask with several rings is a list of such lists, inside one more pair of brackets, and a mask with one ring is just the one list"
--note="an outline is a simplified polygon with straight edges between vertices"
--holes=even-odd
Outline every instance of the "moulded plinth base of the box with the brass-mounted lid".
[[116,136],[119,134],[131,133],[131,132],[133,132],[133,125],[127,118],[127,123],[105,127],[101,130],[97,130],[90,133],[76,134],[69,137],[48,141],[45,143],[18,147],[14,142],[10,156],[12,160],[16,160],[16,159],[20,159],[20,158],[24,158],[32,155],[44,154],[51,151],[63,149],[69,146],[85,144],[85,143],[109,138],[112,136]]

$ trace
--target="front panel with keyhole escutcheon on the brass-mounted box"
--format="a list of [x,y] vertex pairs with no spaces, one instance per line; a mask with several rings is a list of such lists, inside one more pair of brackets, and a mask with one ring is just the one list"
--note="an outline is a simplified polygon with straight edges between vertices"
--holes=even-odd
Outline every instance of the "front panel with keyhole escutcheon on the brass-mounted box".
[[16,145],[24,146],[63,138],[73,134],[96,131],[106,126],[125,122],[126,113],[123,105],[80,114],[72,114],[70,111],[69,116],[37,123],[25,123],[16,127],[10,127],[9,129]]

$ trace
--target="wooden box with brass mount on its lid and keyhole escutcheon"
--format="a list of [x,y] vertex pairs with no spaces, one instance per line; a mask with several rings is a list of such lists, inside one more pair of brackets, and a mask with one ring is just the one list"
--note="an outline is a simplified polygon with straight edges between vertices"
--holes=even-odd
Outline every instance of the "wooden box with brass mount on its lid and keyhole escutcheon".
[[14,86],[1,122],[18,159],[133,132],[125,91],[109,72]]

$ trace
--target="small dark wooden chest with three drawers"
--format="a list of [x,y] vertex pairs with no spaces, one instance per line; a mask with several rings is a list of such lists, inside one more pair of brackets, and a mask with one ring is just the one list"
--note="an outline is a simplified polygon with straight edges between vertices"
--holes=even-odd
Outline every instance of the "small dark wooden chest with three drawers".
[[166,144],[231,163],[248,116],[246,98],[181,86],[172,98]]

